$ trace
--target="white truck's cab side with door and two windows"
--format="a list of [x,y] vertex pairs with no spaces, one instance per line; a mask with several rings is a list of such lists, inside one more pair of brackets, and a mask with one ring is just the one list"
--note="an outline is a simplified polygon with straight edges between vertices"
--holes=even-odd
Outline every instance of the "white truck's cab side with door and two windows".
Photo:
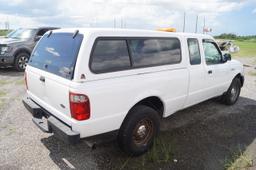
[[230,84],[229,63],[213,40],[187,38],[189,86],[185,107],[221,95]]

